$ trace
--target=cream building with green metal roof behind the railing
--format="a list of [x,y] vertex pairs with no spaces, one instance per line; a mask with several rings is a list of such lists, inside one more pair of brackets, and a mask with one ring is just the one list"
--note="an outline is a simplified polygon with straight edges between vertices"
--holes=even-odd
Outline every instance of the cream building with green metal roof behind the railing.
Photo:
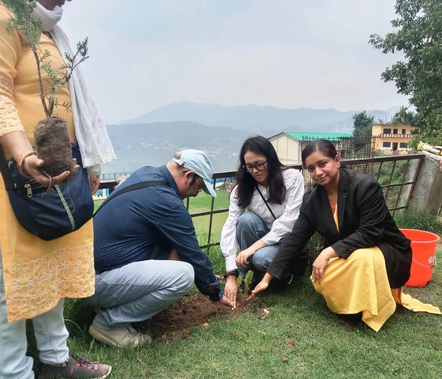
[[272,136],[269,141],[278,154],[284,165],[295,165],[301,163],[302,140],[310,139],[336,139],[341,137],[352,137],[352,133],[303,133],[303,132],[281,132]]

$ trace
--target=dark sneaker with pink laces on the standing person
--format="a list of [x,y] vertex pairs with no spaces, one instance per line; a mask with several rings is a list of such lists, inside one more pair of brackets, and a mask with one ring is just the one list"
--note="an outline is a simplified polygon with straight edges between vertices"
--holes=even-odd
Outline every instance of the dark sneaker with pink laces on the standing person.
[[76,379],[104,379],[112,370],[111,366],[100,362],[90,362],[72,355],[62,364],[50,365],[41,363],[37,379],[76,378]]

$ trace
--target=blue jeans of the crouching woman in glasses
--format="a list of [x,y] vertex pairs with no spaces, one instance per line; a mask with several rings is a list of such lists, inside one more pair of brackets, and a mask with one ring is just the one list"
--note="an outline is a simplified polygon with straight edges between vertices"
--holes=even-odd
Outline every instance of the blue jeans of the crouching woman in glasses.
[[[243,213],[236,223],[236,239],[239,243],[241,251],[247,249],[253,243],[264,237],[269,228],[263,220],[255,213]],[[282,243],[275,243],[273,245],[265,246],[255,252],[248,258],[248,265],[245,269],[240,269],[239,272],[243,279],[249,270],[253,271],[254,280],[260,280],[262,273],[267,271],[267,268],[276,255]]]

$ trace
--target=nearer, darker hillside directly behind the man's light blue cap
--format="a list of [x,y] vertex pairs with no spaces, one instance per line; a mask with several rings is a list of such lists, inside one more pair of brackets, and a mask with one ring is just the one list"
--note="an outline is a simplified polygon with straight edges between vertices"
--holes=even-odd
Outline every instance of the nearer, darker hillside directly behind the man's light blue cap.
[[118,159],[103,172],[133,172],[142,166],[160,166],[185,148],[203,150],[214,171],[230,171],[238,164],[242,142],[251,134],[197,122],[153,122],[109,125],[109,137]]

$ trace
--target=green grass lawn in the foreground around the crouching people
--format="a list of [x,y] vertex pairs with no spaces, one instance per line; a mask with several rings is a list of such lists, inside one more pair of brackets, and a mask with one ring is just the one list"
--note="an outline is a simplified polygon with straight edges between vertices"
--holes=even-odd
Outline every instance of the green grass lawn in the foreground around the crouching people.
[[[442,249],[438,255],[441,256]],[[210,257],[222,270],[219,248]],[[219,272],[219,271],[218,271]],[[406,288],[442,307],[442,265],[423,288]],[[265,293],[262,303],[239,317],[214,318],[189,337],[114,349],[95,343],[87,329],[94,313],[81,300],[68,300],[69,347],[112,364],[111,378],[441,378],[442,316],[396,313],[378,332],[351,325],[331,313],[307,275],[282,293]],[[261,318],[262,308],[270,311]],[[296,345],[288,344],[290,339]],[[287,358],[283,362],[283,358]]]

